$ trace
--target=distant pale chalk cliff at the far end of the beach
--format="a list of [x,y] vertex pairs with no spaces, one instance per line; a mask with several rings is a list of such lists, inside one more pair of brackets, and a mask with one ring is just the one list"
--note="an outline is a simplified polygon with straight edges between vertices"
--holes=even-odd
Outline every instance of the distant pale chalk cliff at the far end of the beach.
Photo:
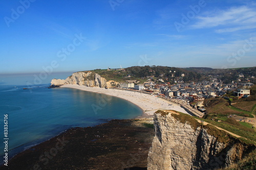
[[72,76],[68,77],[65,80],[53,79],[51,81],[53,85],[65,85],[65,84],[78,84],[80,86],[88,87],[101,87],[101,88],[110,88],[112,84],[116,85],[117,82],[109,81],[107,82],[105,78],[102,78],[100,75],[87,71],[87,72],[75,72]]

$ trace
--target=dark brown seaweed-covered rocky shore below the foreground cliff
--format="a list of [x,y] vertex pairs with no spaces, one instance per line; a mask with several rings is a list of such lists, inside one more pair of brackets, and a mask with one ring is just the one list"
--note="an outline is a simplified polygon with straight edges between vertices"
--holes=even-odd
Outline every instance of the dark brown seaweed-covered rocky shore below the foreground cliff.
[[72,128],[12,158],[1,169],[146,169],[153,118]]

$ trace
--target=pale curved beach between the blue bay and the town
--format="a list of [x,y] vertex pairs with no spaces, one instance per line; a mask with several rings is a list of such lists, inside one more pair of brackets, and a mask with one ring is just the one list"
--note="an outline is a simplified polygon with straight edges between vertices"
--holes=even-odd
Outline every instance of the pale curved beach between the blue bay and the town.
[[105,88],[99,88],[99,87],[86,87],[86,86],[79,86],[79,85],[63,85],[61,87],[75,88],[75,89],[84,90],[84,91],[103,93],[103,94],[108,94],[108,95],[116,96],[118,98],[127,100],[139,106],[144,111],[143,117],[151,116],[155,113],[155,111],[160,109],[176,110],[182,113],[187,113],[178,104],[161,99],[161,98],[157,98],[156,96],[153,96],[150,94],[129,91],[129,90],[105,89]]

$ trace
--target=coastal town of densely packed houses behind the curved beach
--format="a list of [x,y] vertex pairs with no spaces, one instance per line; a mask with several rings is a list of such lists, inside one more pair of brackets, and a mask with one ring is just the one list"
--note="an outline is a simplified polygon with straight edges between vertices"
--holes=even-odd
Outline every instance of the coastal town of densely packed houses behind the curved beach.
[[[182,77],[184,77],[184,74],[182,74]],[[180,81],[175,84],[165,83],[163,79],[158,80],[161,83],[155,83],[151,81],[152,79],[148,79],[143,84],[139,84],[136,80],[127,80],[115,88],[152,94],[180,104],[187,112],[203,117],[207,113],[203,105],[205,99],[224,98],[233,101],[250,96],[249,88],[254,84],[248,80],[246,83],[239,82],[242,77],[244,75],[240,74],[238,75],[238,82],[232,81],[228,84],[223,83],[218,79],[218,76],[210,76],[209,81],[191,83]],[[227,97],[228,93],[231,94],[230,98]]]

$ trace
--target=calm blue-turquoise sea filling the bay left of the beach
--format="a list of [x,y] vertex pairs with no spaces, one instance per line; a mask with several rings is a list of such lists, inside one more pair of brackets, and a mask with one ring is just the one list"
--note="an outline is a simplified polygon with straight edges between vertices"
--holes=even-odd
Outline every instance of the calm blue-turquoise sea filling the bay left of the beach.
[[52,77],[66,79],[71,74],[64,75],[51,75],[38,84],[35,75],[0,75],[1,159],[5,154],[4,119],[8,121],[11,158],[69,128],[92,127],[143,113],[133,103],[114,96],[72,88],[48,88]]

